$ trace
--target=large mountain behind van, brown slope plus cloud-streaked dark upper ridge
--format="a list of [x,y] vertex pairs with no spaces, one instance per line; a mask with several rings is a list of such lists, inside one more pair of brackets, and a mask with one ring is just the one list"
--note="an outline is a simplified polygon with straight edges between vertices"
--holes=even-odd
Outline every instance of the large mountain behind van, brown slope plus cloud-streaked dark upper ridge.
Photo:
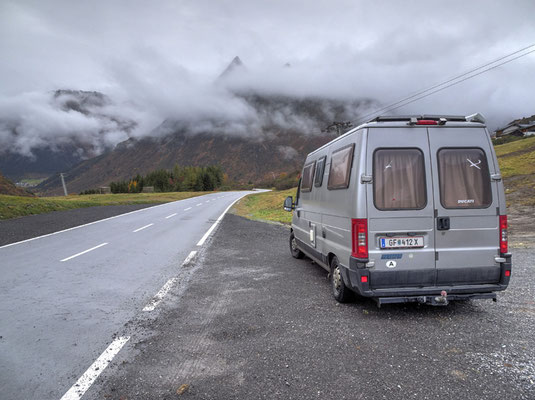
[[[295,173],[306,155],[336,135],[322,129],[336,120],[355,118],[369,100],[342,102],[320,98],[243,95],[256,110],[258,120],[246,125],[245,132],[232,132],[224,121],[203,121],[202,130],[184,121],[167,120],[152,137],[129,139],[98,157],[68,171],[70,193],[107,186],[112,181],[175,164],[219,165],[233,181],[258,183]],[[209,127],[209,128],[207,128]],[[244,127],[240,129],[243,130]],[[54,176],[36,188],[43,194],[61,194],[61,182]]]

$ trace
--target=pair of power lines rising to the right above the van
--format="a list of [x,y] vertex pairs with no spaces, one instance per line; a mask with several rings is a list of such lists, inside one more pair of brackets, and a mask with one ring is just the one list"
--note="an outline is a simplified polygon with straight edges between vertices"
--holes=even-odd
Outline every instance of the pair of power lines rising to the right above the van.
[[[446,81],[444,81],[442,83],[433,85],[433,86],[431,86],[431,87],[429,87],[427,89],[420,90],[420,91],[418,91],[418,92],[416,92],[416,93],[414,93],[414,94],[412,94],[412,95],[410,95],[408,97],[405,97],[403,99],[400,99],[400,100],[397,100],[397,101],[395,101],[393,103],[390,103],[389,105],[384,106],[382,108],[379,108],[379,109],[377,109],[377,110],[375,110],[375,111],[373,111],[371,113],[365,114],[364,116],[359,118],[359,120],[355,123],[355,125],[359,125],[361,122],[364,122],[365,120],[370,119],[370,117],[373,117],[373,116],[377,115],[378,113],[380,113],[382,111],[385,111],[385,110],[391,111],[391,110],[395,110],[397,108],[403,107],[403,106],[405,106],[407,104],[413,103],[414,101],[423,99],[424,97],[427,97],[427,96],[430,96],[430,95],[432,95],[434,93],[440,92],[441,90],[447,89],[447,88],[449,88],[451,86],[457,85],[458,83],[464,82],[464,81],[466,81],[466,80],[468,80],[470,78],[473,78],[475,76],[481,75],[482,73],[485,73],[485,72],[488,72],[488,71],[490,71],[492,69],[495,69],[495,68],[497,68],[497,67],[499,67],[501,65],[507,64],[507,63],[509,63],[511,61],[514,61],[514,60],[518,59],[518,58],[521,58],[521,57],[524,57],[524,56],[526,56],[528,54],[531,54],[531,53],[535,52],[535,50],[531,50],[531,51],[529,51],[527,53],[523,53],[523,54],[521,54],[521,55],[519,55],[517,57],[511,58],[511,59],[509,59],[507,61],[504,61],[504,62],[499,63],[497,65],[494,65],[494,66],[492,66],[490,68],[487,68],[487,69],[485,69],[483,71],[480,71],[480,72],[478,72],[476,74],[473,74],[476,71],[479,71],[479,70],[481,70],[481,69],[483,69],[485,67],[488,67],[489,65],[496,64],[498,61],[510,58],[511,56],[513,56],[515,54],[518,54],[518,53],[521,53],[521,52],[523,52],[523,51],[525,51],[525,50],[527,50],[529,48],[532,48],[534,46],[535,46],[535,44],[532,44],[530,46],[524,47],[524,48],[522,48],[520,50],[517,50],[517,51],[514,51],[514,52],[512,52],[510,54],[507,54],[505,56],[499,57],[499,58],[497,58],[497,59],[495,59],[495,60],[493,60],[491,62],[485,63],[485,64],[483,64],[483,65],[481,65],[481,66],[479,66],[477,68],[473,68],[473,69],[471,69],[469,71],[466,71],[466,72],[464,72],[464,73],[462,73],[460,75],[457,75],[457,76],[455,76],[453,78],[450,78],[450,79],[448,79],[448,80],[446,80]],[[472,74],[472,75],[470,75],[470,74]],[[459,80],[460,78],[463,78],[463,77],[465,77],[467,75],[470,75],[470,76]],[[457,82],[454,82],[454,81],[457,81]],[[450,84],[450,85],[447,85],[450,82],[453,82],[453,83]],[[444,85],[447,85],[447,86],[444,86]],[[440,88],[440,89],[437,89],[437,88]],[[437,90],[433,90],[433,89],[437,89]],[[413,101],[408,101],[408,100],[412,100],[412,99],[414,99],[414,100]],[[403,104],[401,104],[401,103],[403,103]],[[400,104],[400,105],[397,106],[398,104]],[[394,106],[397,106],[397,107],[394,107]]]

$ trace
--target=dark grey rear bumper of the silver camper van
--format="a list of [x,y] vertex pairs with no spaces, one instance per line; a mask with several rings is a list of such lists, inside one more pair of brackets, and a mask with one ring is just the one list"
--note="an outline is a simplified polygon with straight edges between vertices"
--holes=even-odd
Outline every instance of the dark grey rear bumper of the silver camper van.
[[[448,297],[450,297],[450,295],[459,295],[458,299],[460,300],[461,296],[465,298],[481,298],[480,296],[475,295],[505,290],[509,285],[510,280],[510,276],[505,276],[505,271],[511,271],[511,258],[509,257],[507,259],[507,262],[500,264],[500,277],[497,279],[496,283],[463,282],[463,284],[446,285],[433,285],[428,283],[424,286],[401,286],[399,284],[395,285],[394,283],[393,286],[395,287],[372,288],[372,270],[364,268],[364,265],[365,264],[362,263],[361,260],[351,257],[349,268],[342,269],[344,282],[361,296],[373,298],[437,296],[440,295],[443,290],[445,290],[448,293]],[[366,282],[363,282],[363,277],[366,277],[364,279]],[[450,298],[452,300],[454,299],[453,296],[451,296]],[[382,303],[400,302],[395,301],[394,299],[392,300],[393,301],[388,301],[387,299],[384,299]],[[407,301],[417,300],[407,299]]]

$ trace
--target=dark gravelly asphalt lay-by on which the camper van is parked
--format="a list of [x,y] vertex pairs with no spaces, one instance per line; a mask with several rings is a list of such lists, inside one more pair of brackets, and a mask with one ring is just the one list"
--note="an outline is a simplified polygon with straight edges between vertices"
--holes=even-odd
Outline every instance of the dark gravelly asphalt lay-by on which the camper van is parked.
[[378,309],[337,304],[287,239],[287,227],[227,214],[84,398],[535,398],[533,249],[514,251],[497,303]]

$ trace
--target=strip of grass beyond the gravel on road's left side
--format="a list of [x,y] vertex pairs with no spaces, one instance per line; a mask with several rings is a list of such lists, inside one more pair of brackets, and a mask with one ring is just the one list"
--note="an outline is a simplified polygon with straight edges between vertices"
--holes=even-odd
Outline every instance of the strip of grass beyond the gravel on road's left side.
[[125,204],[160,204],[211,192],[132,193],[69,195],[61,197],[22,197],[0,195],[0,219],[42,214],[74,208]]

